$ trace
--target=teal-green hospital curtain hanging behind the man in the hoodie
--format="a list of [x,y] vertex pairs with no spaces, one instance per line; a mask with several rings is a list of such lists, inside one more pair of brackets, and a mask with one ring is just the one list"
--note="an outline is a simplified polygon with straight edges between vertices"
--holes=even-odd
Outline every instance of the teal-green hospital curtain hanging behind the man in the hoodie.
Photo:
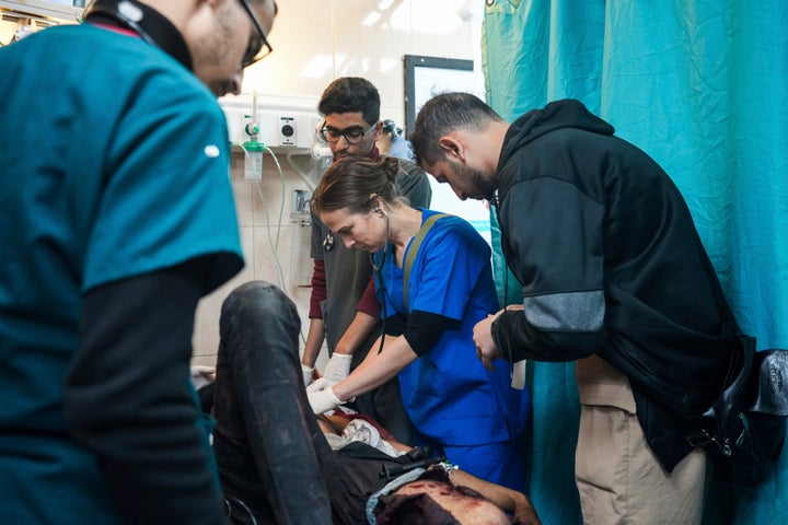
[[[682,190],[742,328],[758,349],[788,348],[788,2],[487,0],[482,52],[487,101],[505,119],[579,98],[653,156]],[[496,275],[519,302],[517,281]],[[531,494],[546,524],[580,523],[566,487],[572,365],[530,368]],[[725,504],[730,523],[788,523],[788,454],[755,494]]]

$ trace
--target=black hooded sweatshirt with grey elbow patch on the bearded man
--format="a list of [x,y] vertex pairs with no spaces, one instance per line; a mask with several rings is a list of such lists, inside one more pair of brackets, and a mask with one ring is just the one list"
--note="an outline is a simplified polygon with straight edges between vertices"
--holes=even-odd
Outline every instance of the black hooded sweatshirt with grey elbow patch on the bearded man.
[[613,133],[573,100],[510,126],[497,211],[525,310],[500,316],[493,336],[508,360],[595,353],[623,372],[646,440],[671,471],[719,393],[734,327],[679,189]]

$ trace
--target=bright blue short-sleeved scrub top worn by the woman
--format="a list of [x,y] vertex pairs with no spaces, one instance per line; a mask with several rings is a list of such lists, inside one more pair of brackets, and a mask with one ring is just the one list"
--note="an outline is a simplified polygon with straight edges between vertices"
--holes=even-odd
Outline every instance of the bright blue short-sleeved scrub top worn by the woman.
[[[434,213],[422,210],[422,221]],[[376,265],[382,257],[382,252],[375,254]],[[405,315],[403,269],[391,250],[381,273],[385,293],[378,276],[375,284],[386,314]],[[463,219],[440,219],[422,241],[409,278],[410,311],[460,322],[399,373],[414,425],[443,445],[496,443],[519,435],[528,422],[529,393],[511,388],[507,366],[485,369],[473,342],[474,325],[498,311],[487,242]]]

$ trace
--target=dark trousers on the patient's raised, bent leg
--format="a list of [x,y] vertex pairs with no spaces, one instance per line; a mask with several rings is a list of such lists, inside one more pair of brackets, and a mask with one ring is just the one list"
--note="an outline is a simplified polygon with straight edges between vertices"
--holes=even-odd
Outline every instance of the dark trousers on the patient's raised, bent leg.
[[232,523],[364,523],[381,463],[336,454],[306,398],[296,305],[273,284],[221,310],[213,450]]

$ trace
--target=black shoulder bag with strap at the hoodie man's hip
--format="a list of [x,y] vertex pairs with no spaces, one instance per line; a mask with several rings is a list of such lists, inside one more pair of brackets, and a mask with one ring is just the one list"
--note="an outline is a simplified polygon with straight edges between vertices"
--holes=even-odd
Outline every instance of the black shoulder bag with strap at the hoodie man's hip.
[[716,273],[711,275],[717,302],[725,320],[735,329],[735,340],[722,393],[704,412],[700,428],[687,435],[687,442],[706,451],[723,483],[752,490],[783,451],[788,350],[756,352],[755,338],[741,331]]

